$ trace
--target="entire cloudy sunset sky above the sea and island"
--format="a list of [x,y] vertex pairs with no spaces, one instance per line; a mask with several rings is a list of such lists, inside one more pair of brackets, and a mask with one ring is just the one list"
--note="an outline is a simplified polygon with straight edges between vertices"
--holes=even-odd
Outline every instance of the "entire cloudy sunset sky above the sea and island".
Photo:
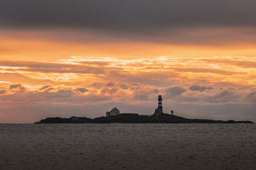
[[0,123],[151,115],[256,122],[254,0],[2,0]]

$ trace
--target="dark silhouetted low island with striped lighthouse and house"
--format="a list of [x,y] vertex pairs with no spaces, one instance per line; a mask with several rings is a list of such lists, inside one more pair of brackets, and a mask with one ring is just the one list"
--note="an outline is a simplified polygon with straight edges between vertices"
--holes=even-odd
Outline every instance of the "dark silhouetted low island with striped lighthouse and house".
[[163,98],[161,95],[159,95],[158,107],[152,115],[139,115],[138,113],[120,113],[117,108],[113,108],[111,111],[106,112],[106,117],[98,117],[93,119],[86,117],[51,117],[42,119],[40,120],[40,122],[35,122],[35,124],[254,124],[251,121],[189,119],[173,115],[173,110],[170,111],[171,114],[169,115],[163,113],[162,101]]

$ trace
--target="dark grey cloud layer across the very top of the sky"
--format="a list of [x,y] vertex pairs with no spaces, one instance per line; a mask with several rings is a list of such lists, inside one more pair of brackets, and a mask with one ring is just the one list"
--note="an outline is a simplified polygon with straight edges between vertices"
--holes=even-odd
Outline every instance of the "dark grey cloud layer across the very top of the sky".
[[163,27],[256,25],[254,0],[2,0],[4,27],[87,27],[153,31]]

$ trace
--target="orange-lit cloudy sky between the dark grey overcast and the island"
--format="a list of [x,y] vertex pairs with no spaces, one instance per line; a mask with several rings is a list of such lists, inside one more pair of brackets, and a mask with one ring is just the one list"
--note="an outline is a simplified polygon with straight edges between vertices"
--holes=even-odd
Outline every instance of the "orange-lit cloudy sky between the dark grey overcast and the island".
[[[112,106],[134,112],[141,107],[142,113],[150,113],[157,93],[163,94],[167,111],[174,107],[189,113],[183,106],[193,104],[200,105],[200,113],[207,111],[206,105],[216,104],[230,111],[228,104],[242,104],[252,115],[255,108],[253,38],[240,43],[212,39],[202,45],[200,39],[186,43],[185,37],[152,41],[147,36],[118,39],[104,34],[102,40],[103,33],[88,36],[83,31],[78,32],[81,37],[64,38],[63,32],[56,31],[0,31],[0,122],[24,111],[31,117],[35,111],[40,113],[34,118],[45,118],[42,112],[49,110],[49,116],[79,112],[97,117]],[[211,32],[225,35],[216,29]],[[204,36],[200,41],[205,41]]]

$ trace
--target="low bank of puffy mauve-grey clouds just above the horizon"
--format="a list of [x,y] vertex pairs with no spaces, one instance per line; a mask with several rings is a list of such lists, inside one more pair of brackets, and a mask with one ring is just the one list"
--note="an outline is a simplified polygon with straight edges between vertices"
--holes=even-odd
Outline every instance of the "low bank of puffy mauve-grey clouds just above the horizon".
[[[10,122],[6,118],[10,118],[12,113],[15,113],[15,115],[22,114],[28,115],[28,117],[23,119],[14,118],[12,121],[26,122],[29,120],[31,123],[38,121],[37,119],[40,118],[52,117],[55,114],[60,117],[70,117],[83,113],[85,117],[99,117],[104,115],[104,111],[109,110],[111,106],[118,106],[120,110],[124,111],[138,112],[140,110],[141,114],[151,114],[157,106],[157,94],[159,93],[163,94],[164,110],[175,110],[175,113],[181,114],[180,116],[191,118],[230,119],[233,116],[237,119],[243,118],[245,120],[253,117],[252,113],[255,108],[253,106],[253,104],[255,105],[255,89],[229,90],[229,88],[214,88],[202,93],[200,89],[195,91],[188,90],[191,86],[175,85],[167,88],[156,88],[152,86],[138,87],[129,85],[131,86],[129,89],[122,89],[116,86],[102,87],[102,89],[90,91],[86,91],[84,87],[72,89],[63,86],[44,86],[31,90],[20,84],[11,85],[10,88],[1,88],[0,90],[0,92],[2,90],[4,92],[3,95],[0,95],[0,105],[3,106],[5,104],[5,106],[8,106],[7,108],[0,107],[1,113],[10,113],[10,115],[0,114],[0,118],[1,121]],[[84,91],[86,93],[83,93]],[[235,108],[237,108],[236,104],[239,104],[241,108],[244,108],[247,104],[248,108],[239,110],[238,107],[234,111],[234,107],[231,107],[230,104],[234,104]],[[30,108],[25,106],[30,106]],[[97,111],[93,110],[93,106],[97,106]],[[220,106],[221,110],[216,106]],[[24,107],[26,108],[26,113],[23,113],[24,110],[20,110],[20,108]],[[51,108],[54,108],[54,111]],[[66,108],[66,110],[63,110],[63,108]],[[211,109],[207,111],[207,108]],[[34,113],[35,111],[36,113]],[[233,112],[231,113],[230,111]],[[243,114],[240,114],[241,111]],[[196,112],[195,115],[193,115],[194,112]],[[40,114],[38,115],[38,113]],[[211,115],[208,113],[211,113]],[[220,113],[223,114],[218,115]]]

